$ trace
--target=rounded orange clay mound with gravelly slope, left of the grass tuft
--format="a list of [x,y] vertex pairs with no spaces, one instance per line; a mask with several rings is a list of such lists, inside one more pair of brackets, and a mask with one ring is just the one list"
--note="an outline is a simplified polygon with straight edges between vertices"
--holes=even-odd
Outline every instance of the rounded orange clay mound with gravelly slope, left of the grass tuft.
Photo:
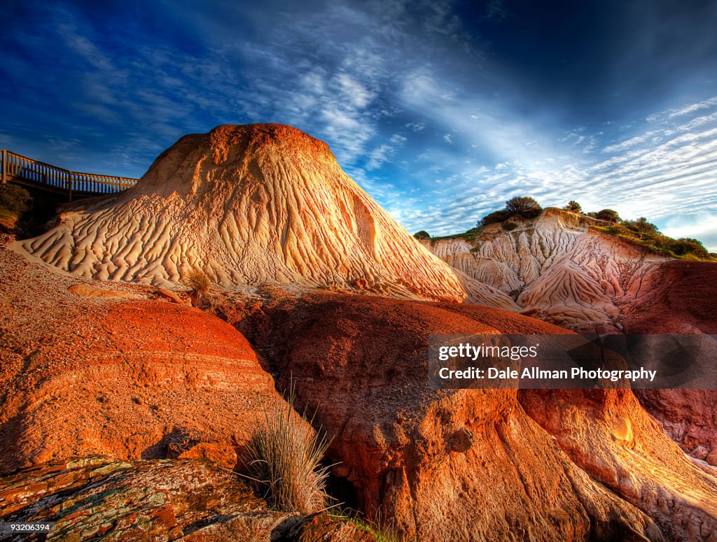
[[215,316],[78,296],[77,277],[6,246],[0,268],[0,473],[87,455],[234,468],[263,408],[285,405],[247,340]]

